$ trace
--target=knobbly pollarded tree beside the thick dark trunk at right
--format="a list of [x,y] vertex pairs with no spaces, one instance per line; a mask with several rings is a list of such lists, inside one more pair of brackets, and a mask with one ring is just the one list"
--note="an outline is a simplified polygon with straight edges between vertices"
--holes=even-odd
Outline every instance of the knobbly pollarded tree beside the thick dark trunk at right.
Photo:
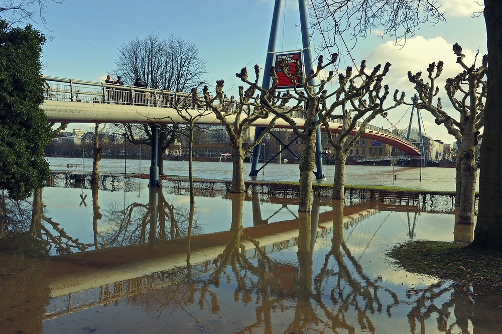
[[455,176],[455,206],[459,208],[458,222],[460,224],[473,224],[474,202],[476,191],[477,165],[475,161],[475,148],[481,139],[479,131],[484,125],[484,101],[486,99],[486,70],[488,57],[482,57],[481,64],[468,66],[464,62],[465,55],[458,44],[453,45],[457,56],[457,63],[463,71],[454,78],[448,78],[445,84],[446,94],[458,112],[458,118],[450,116],[443,108],[441,97],[437,98],[436,105],[433,98],[439,93],[436,80],[443,71],[443,62],[429,64],[427,79],[422,79],[422,73],[408,77],[415,84],[418,101],[415,105],[420,109],[430,112],[438,125],[443,125],[448,133],[457,141],[456,176]]

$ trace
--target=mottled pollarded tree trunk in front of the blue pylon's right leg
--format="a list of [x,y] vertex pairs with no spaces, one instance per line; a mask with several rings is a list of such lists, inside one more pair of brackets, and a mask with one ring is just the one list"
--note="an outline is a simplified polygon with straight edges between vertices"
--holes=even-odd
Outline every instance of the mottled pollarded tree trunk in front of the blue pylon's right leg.
[[312,207],[312,172],[315,166],[315,131],[305,141],[302,158],[298,168],[300,169],[300,198],[299,212],[310,212]]

